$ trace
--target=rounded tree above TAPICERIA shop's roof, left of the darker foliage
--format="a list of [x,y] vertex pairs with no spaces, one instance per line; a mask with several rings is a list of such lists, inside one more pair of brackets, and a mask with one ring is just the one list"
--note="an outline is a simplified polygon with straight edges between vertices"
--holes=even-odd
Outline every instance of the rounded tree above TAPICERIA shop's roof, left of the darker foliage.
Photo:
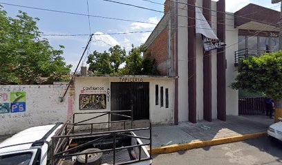
[[95,50],[88,56],[87,63],[89,70],[94,74],[118,74],[120,65],[125,61],[125,56],[126,51],[120,45],[115,45],[110,47],[109,53],[106,51],[100,53]]

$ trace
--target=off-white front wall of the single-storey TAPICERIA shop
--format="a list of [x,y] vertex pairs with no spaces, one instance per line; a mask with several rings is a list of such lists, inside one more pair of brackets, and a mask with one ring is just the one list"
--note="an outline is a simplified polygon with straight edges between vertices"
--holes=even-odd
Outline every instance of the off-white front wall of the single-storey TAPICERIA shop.
[[[149,76],[93,76],[93,77],[76,77],[75,78],[75,112],[97,112],[111,111],[111,82],[132,82],[133,79],[140,82],[149,82],[149,115],[152,124],[171,124],[173,123],[174,109],[174,80],[173,78],[152,78]],[[166,108],[156,105],[156,85],[169,90],[169,107]],[[97,87],[90,89],[89,87]],[[102,89],[102,90],[100,90]],[[109,91],[109,92],[108,92]],[[79,110],[79,95],[82,94],[106,94],[106,109]],[[160,91],[159,91],[160,95]],[[108,97],[109,96],[109,97]],[[160,99],[160,98],[159,98]],[[164,97],[165,99],[165,97]],[[165,101],[165,100],[164,100]],[[159,100],[160,102],[160,100]],[[99,115],[98,113],[97,115]],[[96,115],[96,116],[97,116]],[[95,115],[93,115],[95,116]],[[76,121],[82,121],[89,118],[89,115],[79,115],[75,117]],[[108,122],[107,116],[95,119],[95,122]],[[97,125],[96,128],[107,128],[106,124]]]

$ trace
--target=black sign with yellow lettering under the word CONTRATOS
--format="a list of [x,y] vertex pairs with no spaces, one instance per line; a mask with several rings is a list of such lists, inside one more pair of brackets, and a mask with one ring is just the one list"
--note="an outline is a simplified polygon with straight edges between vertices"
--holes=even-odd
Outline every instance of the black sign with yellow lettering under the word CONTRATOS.
[[106,94],[79,95],[79,109],[80,110],[106,109]]

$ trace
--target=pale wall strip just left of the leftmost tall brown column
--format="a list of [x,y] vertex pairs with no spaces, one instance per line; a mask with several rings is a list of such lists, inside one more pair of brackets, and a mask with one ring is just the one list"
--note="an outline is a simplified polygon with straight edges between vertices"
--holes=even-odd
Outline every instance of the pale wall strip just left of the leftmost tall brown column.
[[[185,0],[180,0],[187,3]],[[188,121],[188,25],[187,5],[178,3],[178,121]]]

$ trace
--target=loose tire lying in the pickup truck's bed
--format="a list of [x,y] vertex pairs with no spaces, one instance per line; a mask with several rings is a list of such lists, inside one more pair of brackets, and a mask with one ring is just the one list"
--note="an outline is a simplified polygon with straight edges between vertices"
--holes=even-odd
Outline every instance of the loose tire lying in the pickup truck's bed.
[[[88,159],[87,159],[87,163],[91,164],[91,165],[100,165],[102,163],[102,156],[103,153],[92,153],[92,152],[96,152],[96,151],[101,151],[98,148],[89,148],[86,149],[84,151],[82,151],[81,153],[91,153],[88,154]],[[77,156],[77,163],[78,164],[85,164],[86,162],[86,155],[78,155]]]

